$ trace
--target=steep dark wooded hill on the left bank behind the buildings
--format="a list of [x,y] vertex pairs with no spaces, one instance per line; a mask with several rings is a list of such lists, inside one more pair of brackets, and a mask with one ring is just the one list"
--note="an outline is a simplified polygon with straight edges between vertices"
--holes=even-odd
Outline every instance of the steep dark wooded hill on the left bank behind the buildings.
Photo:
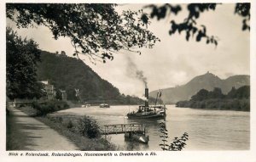
[[48,80],[55,86],[56,91],[66,90],[68,100],[78,100],[75,89],[79,89],[81,101],[142,102],[139,98],[121,95],[118,88],[103,80],[80,59],[42,51],[41,60],[38,64],[38,81]]

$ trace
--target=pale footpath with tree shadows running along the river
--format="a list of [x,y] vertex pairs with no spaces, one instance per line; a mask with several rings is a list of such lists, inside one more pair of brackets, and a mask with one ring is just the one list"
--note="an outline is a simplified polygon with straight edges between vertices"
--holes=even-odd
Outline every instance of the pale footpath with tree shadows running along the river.
[[20,109],[9,108],[7,150],[79,150],[67,137]]

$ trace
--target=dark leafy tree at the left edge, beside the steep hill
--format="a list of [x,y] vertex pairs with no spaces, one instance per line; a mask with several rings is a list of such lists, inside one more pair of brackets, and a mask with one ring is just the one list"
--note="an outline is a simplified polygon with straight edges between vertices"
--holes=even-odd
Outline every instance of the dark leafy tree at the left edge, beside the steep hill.
[[36,65],[40,60],[38,44],[21,39],[10,28],[6,30],[7,96],[14,98],[41,98],[43,84],[37,81]]

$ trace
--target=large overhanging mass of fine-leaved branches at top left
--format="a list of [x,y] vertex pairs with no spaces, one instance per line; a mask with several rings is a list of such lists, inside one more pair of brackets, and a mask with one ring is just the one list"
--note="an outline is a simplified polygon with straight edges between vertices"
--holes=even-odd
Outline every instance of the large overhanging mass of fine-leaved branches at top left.
[[7,3],[7,18],[18,27],[45,25],[54,38],[71,38],[74,55],[92,61],[113,59],[119,50],[137,52],[160,41],[147,30],[149,21],[142,11],[118,14],[111,3]]

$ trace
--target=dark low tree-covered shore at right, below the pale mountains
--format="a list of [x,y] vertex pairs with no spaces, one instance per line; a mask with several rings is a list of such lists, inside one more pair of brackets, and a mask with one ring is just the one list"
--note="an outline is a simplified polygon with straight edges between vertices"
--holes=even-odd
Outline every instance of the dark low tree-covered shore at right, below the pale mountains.
[[238,89],[232,87],[226,95],[218,87],[210,92],[201,89],[189,101],[179,101],[176,106],[196,109],[250,111],[250,87],[243,86]]

